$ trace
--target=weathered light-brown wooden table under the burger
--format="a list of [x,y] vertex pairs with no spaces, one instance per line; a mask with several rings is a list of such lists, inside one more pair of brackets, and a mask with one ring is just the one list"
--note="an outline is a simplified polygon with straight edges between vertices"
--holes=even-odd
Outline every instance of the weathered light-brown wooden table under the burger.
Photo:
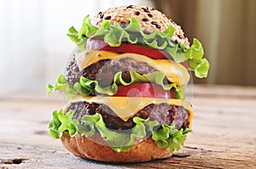
[[0,168],[256,168],[256,87],[194,86],[193,133],[171,158],[129,165],[70,155],[48,135],[60,94],[0,97]]

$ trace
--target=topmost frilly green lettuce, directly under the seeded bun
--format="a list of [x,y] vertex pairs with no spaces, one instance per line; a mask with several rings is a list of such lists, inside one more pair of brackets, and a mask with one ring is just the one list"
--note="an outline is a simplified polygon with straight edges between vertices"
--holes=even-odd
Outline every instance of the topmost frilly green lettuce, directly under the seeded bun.
[[90,15],[86,15],[82,28],[77,31],[72,26],[68,30],[67,36],[79,46],[81,51],[85,50],[88,38],[103,40],[112,47],[119,47],[121,42],[128,42],[166,51],[178,63],[188,60],[189,69],[195,71],[195,76],[206,77],[209,63],[207,59],[202,59],[204,51],[201,42],[195,38],[192,46],[186,49],[181,42],[172,42],[173,34],[172,25],[169,25],[166,31],[156,30],[151,34],[146,34],[138,20],[133,17],[131,17],[130,24],[125,28],[119,25],[109,25],[109,20],[104,20],[102,25],[97,28],[90,23]]

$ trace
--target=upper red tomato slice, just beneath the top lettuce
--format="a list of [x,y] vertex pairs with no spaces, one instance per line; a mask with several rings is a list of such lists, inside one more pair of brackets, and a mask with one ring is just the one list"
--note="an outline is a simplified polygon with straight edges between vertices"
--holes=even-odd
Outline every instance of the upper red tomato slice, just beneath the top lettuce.
[[[122,43],[119,47],[111,47],[108,43],[89,38],[86,43],[86,48],[91,50],[105,50],[115,53],[133,53],[133,54],[143,54],[152,59],[172,59],[170,54],[165,51],[160,51],[154,48],[146,48],[138,45],[131,45]],[[173,60],[173,59],[172,59]],[[189,69],[188,61],[180,63],[185,68]]]

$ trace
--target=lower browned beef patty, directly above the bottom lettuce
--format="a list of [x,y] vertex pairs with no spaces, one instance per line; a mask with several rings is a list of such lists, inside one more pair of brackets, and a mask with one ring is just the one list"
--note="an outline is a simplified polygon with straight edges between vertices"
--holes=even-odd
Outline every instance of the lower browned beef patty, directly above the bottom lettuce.
[[[81,101],[72,103],[67,111],[71,110],[74,112],[73,119],[80,121],[81,124],[84,124],[84,122],[81,121],[84,115],[95,115],[99,113],[102,115],[106,127],[110,129],[126,130],[135,126],[135,123],[132,121],[133,117],[128,121],[123,121],[105,104]],[[167,125],[172,125],[172,121],[175,121],[178,130],[182,127],[189,126],[189,111],[185,110],[183,106],[169,105],[166,103],[149,104],[144,107],[143,110],[139,110],[134,116],[143,119],[148,119],[149,117],[152,121],[159,121],[160,124],[165,123]]]

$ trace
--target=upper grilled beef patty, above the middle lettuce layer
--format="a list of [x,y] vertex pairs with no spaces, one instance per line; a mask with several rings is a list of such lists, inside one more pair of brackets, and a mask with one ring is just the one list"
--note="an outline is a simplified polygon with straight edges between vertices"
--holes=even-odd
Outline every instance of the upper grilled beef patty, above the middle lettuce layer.
[[80,77],[84,76],[90,80],[97,80],[102,87],[108,87],[113,82],[113,76],[119,72],[124,72],[122,77],[125,82],[131,81],[131,76],[129,71],[134,70],[137,73],[149,74],[153,73],[155,70],[146,63],[138,62],[135,59],[125,58],[125,59],[103,59],[96,64],[90,65],[83,70],[79,70],[79,65],[73,56],[70,63],[66,68],[66,78],[71,84],[79,82]]

